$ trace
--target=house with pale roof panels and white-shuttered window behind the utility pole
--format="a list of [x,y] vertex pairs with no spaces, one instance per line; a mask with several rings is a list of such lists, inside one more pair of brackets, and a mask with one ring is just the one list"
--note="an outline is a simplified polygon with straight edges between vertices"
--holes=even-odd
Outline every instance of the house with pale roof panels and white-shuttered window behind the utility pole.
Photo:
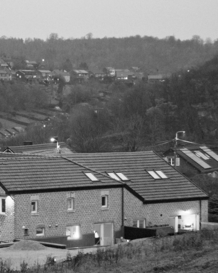
[[[218,177],[218,147],[197,144],[177,147],[177,170],[187,177],[208,174]],[[174,148],[163,154],[163,158],[174,166]]]

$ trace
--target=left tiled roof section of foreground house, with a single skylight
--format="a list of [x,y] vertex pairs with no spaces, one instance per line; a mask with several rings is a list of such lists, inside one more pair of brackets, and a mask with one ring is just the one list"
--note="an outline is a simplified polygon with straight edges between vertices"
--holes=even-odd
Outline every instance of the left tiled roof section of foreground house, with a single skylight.
[[[91,172],[99,181],[92,182],[83,172]],[[54,156],[0,158],[0,185],[8,194],[13,194],[90,186],[119,186],[122,183],[61,156]]]

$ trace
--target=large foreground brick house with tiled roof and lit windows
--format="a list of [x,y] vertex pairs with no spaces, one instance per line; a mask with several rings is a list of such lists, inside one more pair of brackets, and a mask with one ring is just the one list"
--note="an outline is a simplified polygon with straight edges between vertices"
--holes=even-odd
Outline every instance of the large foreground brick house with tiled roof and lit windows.
[[124,225],[177,232],[207,222],[207,194],[154,152],[14,156],[0,157],[1,242],[85,247],[97,231],[111,245]]

